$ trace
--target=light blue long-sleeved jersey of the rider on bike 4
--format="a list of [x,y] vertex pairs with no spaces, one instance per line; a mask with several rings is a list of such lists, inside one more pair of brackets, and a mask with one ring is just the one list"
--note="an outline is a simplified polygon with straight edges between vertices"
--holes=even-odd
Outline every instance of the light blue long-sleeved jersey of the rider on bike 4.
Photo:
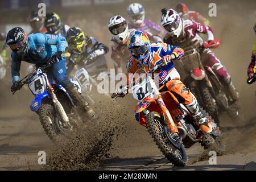
[[11,53],[11,78],[13,82],[19,81],[20,79],[19,71],[21,61],[32,64],[43,64],[57,51],[65,52],[65,48],[68,46],[63,36],[39,33],[31,34],[27,37],[28,49],[24,56],[20,57],[15,52]]

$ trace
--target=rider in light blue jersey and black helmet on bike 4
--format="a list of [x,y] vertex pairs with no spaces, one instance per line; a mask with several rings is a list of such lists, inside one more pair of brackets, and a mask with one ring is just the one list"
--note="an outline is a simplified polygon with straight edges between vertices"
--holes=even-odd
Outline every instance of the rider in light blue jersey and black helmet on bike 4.
[[46,64],[51,57],[56,63],[51,66],[47,73],[49,79],[54,78],[57,84],[63,85],[76,104],[85,109],[88,118],[96,118],[92,108],[89,107],[76,86],[66,76],[63,52],[67,47],[67,42],[63,36],[41,33],[27,36],[22,28],[15,27],[8,32],[6,44],[12,50],[11,78],[13,85],[11,86],[11,92],[22,87],[22,83],[19,82],[21,61],[35,64],[38,68]]

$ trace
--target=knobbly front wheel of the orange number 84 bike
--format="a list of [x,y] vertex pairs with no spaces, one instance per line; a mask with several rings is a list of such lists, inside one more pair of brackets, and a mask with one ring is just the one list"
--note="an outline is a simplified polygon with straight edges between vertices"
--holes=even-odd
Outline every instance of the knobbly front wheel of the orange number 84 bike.
[[147,115],[146,123],[148,131],[164,156],[175,166],[185,166],[188,158],[181,138],[176,137],[174,139],[170,134],[167,134],[162,118],[154,111]]

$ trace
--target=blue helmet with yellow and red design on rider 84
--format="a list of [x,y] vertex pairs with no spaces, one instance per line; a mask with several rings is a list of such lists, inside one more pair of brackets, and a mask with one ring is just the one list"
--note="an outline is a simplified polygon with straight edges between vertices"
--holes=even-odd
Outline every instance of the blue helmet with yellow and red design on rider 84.
[[150,48],[150,40],[145,32],[137,30],[130,35],[128,49],[134,59],[141,61],[142,64],[147,64],[151,52]]

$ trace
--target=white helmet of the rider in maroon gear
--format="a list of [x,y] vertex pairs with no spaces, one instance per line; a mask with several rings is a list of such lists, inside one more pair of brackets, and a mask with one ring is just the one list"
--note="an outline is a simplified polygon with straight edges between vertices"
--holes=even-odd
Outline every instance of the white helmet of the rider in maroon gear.
[[178,38],[183,31],[183,20],[173,9],[162,9],[161,23],[171,36],[176,36]]

